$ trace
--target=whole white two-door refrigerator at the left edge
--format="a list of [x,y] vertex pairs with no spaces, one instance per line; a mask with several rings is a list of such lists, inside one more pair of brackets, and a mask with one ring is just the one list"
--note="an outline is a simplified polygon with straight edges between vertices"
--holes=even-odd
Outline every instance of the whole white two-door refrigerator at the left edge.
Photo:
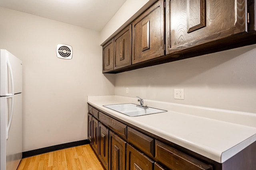
[[0,49],[0,170],[22,158],[22,61]]

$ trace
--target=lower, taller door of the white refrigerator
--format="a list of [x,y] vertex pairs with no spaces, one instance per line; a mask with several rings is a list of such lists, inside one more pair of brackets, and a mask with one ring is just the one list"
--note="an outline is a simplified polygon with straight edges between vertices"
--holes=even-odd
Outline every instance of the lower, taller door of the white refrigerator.
[[[13,115],[8,132],[12,102]],[[22,94],[1,97],[0,106],[0,170],[16,170],[22,158]]]

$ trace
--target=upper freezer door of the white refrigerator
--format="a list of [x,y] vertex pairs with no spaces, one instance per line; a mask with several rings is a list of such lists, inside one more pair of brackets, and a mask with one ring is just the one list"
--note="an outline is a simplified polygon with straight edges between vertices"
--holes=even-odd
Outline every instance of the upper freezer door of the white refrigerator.
[[0,49],[0,96],[22,92],[22,61]]

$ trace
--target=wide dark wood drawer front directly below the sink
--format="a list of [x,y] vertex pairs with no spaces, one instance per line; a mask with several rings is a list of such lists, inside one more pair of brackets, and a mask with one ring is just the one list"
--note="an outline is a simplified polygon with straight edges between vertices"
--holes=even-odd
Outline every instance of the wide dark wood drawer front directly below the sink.
[[104,113],[99,113],[99,120],[106,126],[110,127],[114,132],[118,133],[122,138],[127,139],[127,126],[123,123],[112,119]]

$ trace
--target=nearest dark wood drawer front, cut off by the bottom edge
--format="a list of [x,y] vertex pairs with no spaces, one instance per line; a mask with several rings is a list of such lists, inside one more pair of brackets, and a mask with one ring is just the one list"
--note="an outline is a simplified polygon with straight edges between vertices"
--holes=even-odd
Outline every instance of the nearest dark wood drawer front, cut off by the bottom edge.
[[164,164],[167,168],[178,170],[212,170],[212,166],[200,162],[168,145],[156,140],[156,160]]

